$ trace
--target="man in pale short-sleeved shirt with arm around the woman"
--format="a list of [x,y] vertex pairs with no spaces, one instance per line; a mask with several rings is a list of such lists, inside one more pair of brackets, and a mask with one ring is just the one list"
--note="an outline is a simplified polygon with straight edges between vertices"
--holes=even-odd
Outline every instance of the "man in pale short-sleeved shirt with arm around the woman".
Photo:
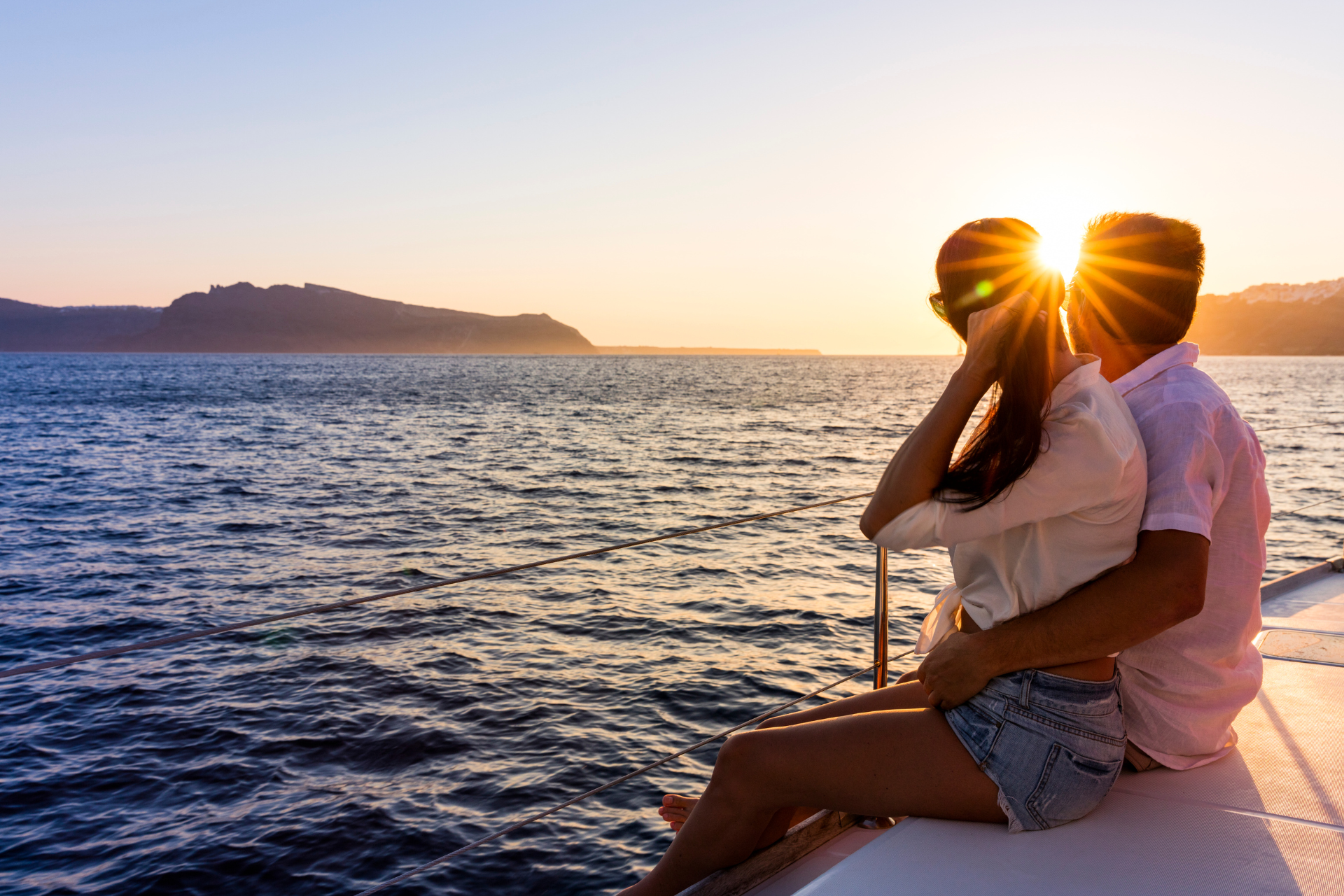
[[1148,453],[1132,563],[1032,614],[953,633],[915,673],[930,705],[960,705],[995,676],[1120,652],[1138,771],[1195,768],[1236,744],[1231,724],[1261,685],[1265,454],[1181,343],[1204,273],[1199,228],[1157,215],[1091,222],[1070,286],[1074,348],[1098,355]]

